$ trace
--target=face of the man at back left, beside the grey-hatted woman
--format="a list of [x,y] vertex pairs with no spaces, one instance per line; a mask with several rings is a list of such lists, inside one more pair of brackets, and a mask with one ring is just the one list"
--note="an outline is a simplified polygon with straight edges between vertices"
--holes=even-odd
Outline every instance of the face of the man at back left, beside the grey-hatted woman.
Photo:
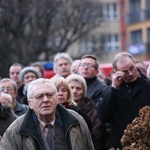
[[9,69],[9,77],[10,79],[14,80],[16,83],[19,83],[19,73],[21,71],[21,66],[12,66]]

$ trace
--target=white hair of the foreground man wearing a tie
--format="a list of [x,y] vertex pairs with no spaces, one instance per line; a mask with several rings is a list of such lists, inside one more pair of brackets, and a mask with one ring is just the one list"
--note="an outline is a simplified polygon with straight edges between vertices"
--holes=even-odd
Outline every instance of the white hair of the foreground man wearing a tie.
[[27,88],[27,98],[28,99],[31,99],[33,97],[33,93],[34,93],[34,91],[32,90],[33,86],[39,85],[41,83],[48,83],[50,85],[50,87],[53,89],[54,93],[57,92],[57,89],[56,89],[55,85],[53,84],[53,82],[51,82],[49,79],[39,78],[39,79],[36,79],[29,83],[29,86]]

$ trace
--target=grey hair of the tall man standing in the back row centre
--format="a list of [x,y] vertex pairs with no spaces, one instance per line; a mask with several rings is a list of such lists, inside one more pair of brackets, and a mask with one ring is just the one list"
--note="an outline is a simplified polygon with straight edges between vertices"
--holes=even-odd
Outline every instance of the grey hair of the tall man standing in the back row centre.
[[70,65],[72,64],[72,58],[71,58],[71,56],[69,55],[69,54],[67,54],[67,53],[57,53],[56,55],[55,55],[55,57],[54,57],[54,64],[53,64],[53,70],[54,70],[54,72],[55,73],[57,73],[57,71],[56,71],[56,67],[57,67],[57,61],[60,59],[60,58],[64,58],[64,59],[66,59],[66,60],[68,60],[69,61],[69,63],[70,63]]

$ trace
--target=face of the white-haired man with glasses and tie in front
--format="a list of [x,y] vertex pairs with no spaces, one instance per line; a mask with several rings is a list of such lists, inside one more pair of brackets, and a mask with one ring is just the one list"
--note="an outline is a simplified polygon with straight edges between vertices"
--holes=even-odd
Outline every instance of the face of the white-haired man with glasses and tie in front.
[[54,116],[57,106],[57,96],[48,83],[34,85],[34,92],[28,104],[36,115],[42,120],[46,116]]

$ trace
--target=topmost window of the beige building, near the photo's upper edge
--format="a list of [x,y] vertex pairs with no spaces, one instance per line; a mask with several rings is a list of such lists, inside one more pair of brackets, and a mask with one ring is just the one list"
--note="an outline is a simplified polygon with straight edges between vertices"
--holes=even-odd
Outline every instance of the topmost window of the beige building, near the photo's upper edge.
[[118,11],[116,3],[105,3],[102,4],[102,19],[105,21],[117,20]]

